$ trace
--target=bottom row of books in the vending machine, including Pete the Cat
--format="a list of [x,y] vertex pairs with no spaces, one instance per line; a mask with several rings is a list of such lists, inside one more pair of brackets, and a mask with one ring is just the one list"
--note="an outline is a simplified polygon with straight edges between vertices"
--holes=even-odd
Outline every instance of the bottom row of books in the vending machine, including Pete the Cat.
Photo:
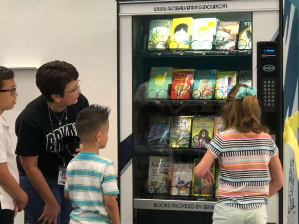
[[193,163],[175,163],[171,156],[149,156],[148,193],[201,197],[217,195],[220,169],[217,167],[215,170],[212,164],[210,171],[215,176],[215,186],[208,186],[194,173],[200,160],[195,158]]

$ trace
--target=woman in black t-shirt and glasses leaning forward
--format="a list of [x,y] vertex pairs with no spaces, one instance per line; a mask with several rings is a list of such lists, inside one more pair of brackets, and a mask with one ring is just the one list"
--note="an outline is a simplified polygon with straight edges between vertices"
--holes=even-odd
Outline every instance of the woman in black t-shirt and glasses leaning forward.
[[15,122],[17,167],[20,186],[29,197],[24,211],[30,224],[69,223],[73,208],[60,184],[72,152],[64,149],[61,139],[77,135],[76,116],[88,106],[78,76],[67,62],[42,65],[36,73],[42,95],[30,102]]

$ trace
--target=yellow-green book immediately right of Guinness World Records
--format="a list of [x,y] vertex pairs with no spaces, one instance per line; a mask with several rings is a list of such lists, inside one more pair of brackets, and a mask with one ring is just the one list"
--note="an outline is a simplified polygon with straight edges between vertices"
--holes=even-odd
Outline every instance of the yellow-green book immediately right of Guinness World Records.
[[213,138],[214,117],[195,116],[192,118],[192,148],[206,148]]

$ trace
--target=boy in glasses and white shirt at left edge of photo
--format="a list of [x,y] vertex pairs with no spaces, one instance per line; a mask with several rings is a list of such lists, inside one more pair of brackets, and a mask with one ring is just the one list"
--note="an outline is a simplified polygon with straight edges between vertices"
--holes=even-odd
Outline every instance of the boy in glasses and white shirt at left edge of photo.
[[19,187],[9,126],[2,113],[11,110],[16,101],[14,73],[0,66],[0,223],[12,224],[17,212],[23,210],[28,198]]

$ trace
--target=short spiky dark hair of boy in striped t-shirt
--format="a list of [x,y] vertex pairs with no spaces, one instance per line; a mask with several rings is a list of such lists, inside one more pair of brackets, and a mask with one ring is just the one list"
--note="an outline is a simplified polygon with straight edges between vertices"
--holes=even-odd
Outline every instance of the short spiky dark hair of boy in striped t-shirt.
[[84,108],[76,118],[76,130],[81,139],[102,129],[107,122],[111,109],[103,105],[90,105]]

